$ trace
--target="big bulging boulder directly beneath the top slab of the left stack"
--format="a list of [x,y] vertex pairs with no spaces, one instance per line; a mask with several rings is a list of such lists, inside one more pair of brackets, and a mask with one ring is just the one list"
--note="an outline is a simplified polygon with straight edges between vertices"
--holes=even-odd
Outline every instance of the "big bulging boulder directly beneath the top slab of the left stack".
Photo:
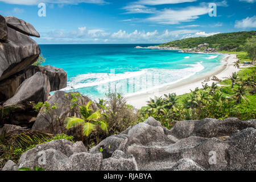
[[7,42],[0,42],[0,81],[33,64],[40,48],[29,36],[8,27]]

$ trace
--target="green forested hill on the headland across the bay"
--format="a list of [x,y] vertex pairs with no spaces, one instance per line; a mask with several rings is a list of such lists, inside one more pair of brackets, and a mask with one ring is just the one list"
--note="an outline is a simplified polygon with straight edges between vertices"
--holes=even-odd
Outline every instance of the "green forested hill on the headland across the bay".
[[218,51],[242,51],[240,46],[245,44],[247,38],[251,38],[251,36],[254,35],[256,35],[256,31],[232,32],[216,34],[208,37],[175,40],[159,46],[170,46],[186,49],[197,47],[199,44],[208,43],[208,47],[216,48]]

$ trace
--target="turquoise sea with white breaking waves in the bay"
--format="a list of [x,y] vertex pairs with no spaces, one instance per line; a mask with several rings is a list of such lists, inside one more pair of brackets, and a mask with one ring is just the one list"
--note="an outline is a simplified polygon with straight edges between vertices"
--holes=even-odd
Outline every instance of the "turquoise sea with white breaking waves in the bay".
[[182,53],[158,49],[135,49],[152,44],[40,45],[44,65],[68,73],[68,92],[79,91],[104,98],[116,90],[124,96],[171,85],[221,66],[224,55]]

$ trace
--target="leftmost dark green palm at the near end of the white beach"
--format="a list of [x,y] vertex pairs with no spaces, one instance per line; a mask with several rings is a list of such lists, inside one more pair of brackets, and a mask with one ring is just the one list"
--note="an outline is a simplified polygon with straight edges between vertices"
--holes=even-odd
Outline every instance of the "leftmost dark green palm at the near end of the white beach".
[[166,113],[167,110],[165,109],[166,104],[164,103],[164,100],[162,97],[155,97],[155,99],[150,98],[150,101],[147,101],[147,111],[160,114],[160,113]]

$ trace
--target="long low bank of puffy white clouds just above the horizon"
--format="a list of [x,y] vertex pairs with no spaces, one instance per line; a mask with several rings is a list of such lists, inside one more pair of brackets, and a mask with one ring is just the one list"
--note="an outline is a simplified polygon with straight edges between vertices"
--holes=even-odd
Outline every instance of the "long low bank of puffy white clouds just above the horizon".
[[217,32],[205,33],[200,30],[164,30],[163,32],[139,31],[127,32],[119,30],[116,32],[106,32],[101,29],[88,29],[86,27],[77,28],[75,31],[67,32],[65,30],[52,30],[42,33],[40,39],[36,41],[44,43],[164,43],[172,40],[210,36],[218,34]]

